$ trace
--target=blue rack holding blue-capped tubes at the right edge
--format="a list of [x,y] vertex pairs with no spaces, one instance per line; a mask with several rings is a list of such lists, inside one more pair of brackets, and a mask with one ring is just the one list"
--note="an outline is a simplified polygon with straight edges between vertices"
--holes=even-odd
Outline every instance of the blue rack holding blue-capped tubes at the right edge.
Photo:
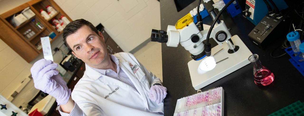
[[285,51],[291,57],[289,59],[290,63],[292,63],[292,65],[295,66],[295,68],[304,76],[304,60],[299,57],[301,52],[293,52],[291,47],[286,48]]

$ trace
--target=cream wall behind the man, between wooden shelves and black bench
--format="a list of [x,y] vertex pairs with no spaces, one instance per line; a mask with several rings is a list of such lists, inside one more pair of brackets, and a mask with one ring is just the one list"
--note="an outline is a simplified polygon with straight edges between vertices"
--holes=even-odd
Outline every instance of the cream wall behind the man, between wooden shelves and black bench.
[[147,39],[152,29],[161,28],[157,0],[54,0],[72,20],[86,19],[105,31],[125,52]]

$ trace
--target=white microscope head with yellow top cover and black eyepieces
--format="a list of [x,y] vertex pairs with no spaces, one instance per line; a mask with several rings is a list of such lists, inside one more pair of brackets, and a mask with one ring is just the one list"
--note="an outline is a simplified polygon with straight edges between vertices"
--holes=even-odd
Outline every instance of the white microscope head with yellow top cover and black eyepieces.
[[167,43],[169,47],[177,47],[180,43],[194,60],[206,56],[202,37],[190,13],[178,20],[175,26],[168,25],[167,31],[152,29],[151,32],[151,41]]

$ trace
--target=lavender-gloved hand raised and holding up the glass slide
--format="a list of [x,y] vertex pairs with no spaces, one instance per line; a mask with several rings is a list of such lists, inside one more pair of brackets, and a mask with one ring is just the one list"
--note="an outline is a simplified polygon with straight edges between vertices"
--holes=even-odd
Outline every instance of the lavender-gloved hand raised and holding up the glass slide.
[[56,70],[58,65],[50,60],[38,60],[31,68],[34,86],[45,93],[56,98],[58,105],[67,103],[71,89],[67,88],[67,84]]

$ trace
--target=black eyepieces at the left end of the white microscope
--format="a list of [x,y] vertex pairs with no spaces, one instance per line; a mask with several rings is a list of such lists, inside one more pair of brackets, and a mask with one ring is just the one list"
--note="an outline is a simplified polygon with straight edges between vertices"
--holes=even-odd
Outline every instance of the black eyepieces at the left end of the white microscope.
[[167,32],[163,30],[152,29],[151,41],[155,41],[159,43],[167,43],[168,42]]

